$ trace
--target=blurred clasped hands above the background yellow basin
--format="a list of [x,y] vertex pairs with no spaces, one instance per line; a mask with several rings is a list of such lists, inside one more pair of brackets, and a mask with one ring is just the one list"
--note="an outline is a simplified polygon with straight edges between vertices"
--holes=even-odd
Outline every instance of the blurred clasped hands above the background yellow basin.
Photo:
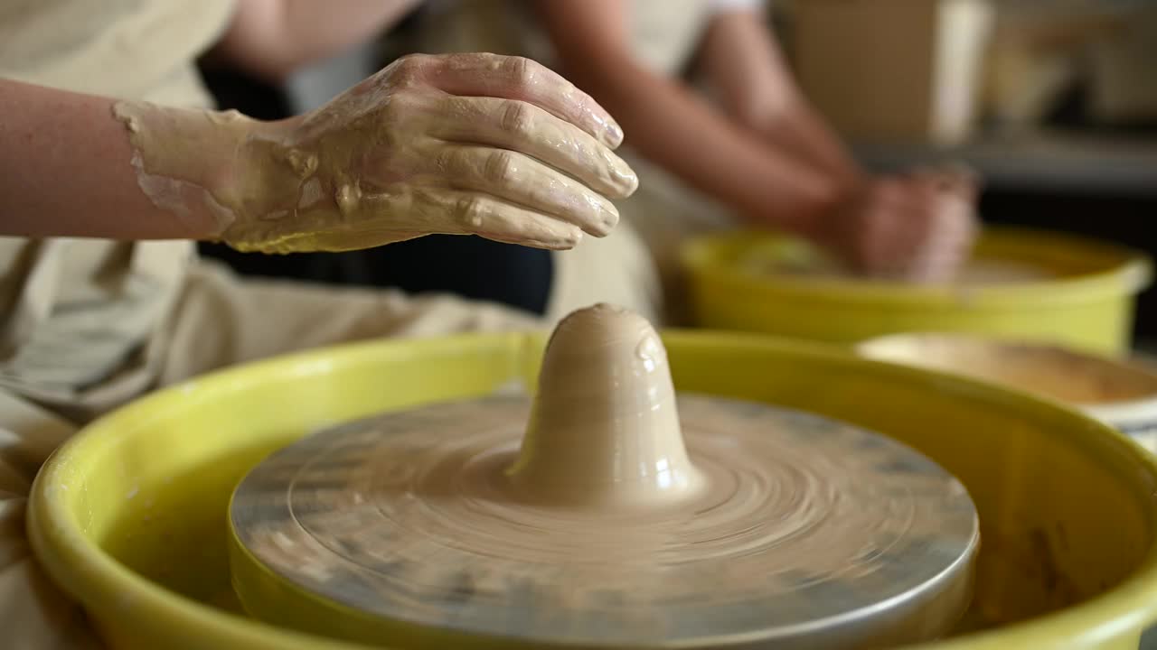
[[975,199],[975,182],[963,173],[871,179],[827,220],[820,239],[865,275],[949,280],[979,229]]

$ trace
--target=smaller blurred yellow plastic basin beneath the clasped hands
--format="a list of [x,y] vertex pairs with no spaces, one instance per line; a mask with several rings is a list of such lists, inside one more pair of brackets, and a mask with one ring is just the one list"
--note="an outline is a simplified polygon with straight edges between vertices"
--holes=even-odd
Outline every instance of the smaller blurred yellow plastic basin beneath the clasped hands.
[[[773,274],[749,264],[801,256],[769,234],[697,238],[683,251],[698,325],[850,344],[902,332],[966,332],[1120,354],[1150,260],[1136,251],[1064,235],[992,229],[978,260],[1023,265],[1047,280],[933,287]],[[806,252],[803,253],[804,256]]]

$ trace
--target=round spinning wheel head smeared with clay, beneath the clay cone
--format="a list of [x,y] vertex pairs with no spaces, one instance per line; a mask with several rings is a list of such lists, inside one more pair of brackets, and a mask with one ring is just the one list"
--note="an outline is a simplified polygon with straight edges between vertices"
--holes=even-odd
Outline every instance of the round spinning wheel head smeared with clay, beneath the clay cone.
[[[514,495],[503,470],[524,398],[320,431],[237,488],[239,561],[345,612],[349,630],[381,621],[391,647],[867,648],[963,614],[978,519],[938,465],[810,414],[692,394],[678,405],[707,483],[643,510]],[[237,575],[250,611],[277,607]]]

